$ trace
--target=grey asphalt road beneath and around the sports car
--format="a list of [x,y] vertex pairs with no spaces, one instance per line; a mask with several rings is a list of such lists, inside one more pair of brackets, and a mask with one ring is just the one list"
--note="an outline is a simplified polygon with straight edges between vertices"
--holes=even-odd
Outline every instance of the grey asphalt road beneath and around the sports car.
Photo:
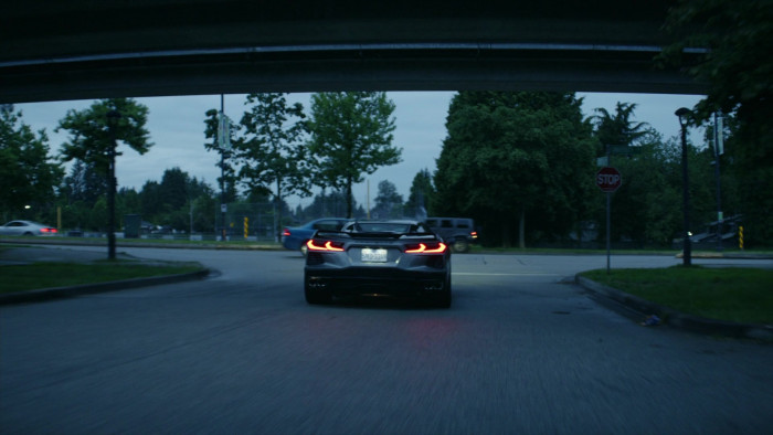
[[445,310],[307,306],[288,252],[120,251],[220,274],[0,307],[1,433],[773,428],[773,346],[639,326],[570,282],[604,256],[456,255]]

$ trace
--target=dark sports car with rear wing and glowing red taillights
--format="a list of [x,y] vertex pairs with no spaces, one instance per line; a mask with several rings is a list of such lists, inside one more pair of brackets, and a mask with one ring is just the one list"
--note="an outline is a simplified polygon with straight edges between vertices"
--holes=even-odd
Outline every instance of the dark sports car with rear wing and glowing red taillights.
[[309,304],[333,296],[411,296],[451,307],[451,250],[423,223],[352,221],[307,242]]

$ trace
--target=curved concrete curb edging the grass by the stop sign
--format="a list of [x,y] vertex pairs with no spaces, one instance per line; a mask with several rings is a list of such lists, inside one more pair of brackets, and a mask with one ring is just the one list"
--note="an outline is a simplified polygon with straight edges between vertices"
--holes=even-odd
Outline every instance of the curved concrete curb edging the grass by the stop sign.
[[735,323],[731,321],[707,319],[692,315],[686,315],[668,307],[642,299],[637,296],[621,291],[616,288],[605,286],[592,279],[574,276],[574,282],[586,290],[604,296],[620,303],[645,316],[658,316],[663,319],[663,325],[684,329],[690,332],[707,336],[721,336],[731,338],[746,338],[773,342],[773,326]]

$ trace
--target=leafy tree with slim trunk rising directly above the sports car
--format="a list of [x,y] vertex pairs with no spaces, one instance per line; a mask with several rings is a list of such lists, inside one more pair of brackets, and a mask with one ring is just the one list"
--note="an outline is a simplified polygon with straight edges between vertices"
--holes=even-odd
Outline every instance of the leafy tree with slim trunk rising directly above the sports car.
[[310,151],[330,187],[343,190],[353,214],[351,187],[379,167],[400,162],[392,145],[394,103],[383,92],[319,93],[311,96]]

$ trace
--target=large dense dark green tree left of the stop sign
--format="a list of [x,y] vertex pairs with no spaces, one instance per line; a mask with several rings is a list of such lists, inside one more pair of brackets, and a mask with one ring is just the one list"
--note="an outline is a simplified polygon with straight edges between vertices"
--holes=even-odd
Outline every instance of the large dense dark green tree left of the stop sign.
[[487,243],[565,236],[591,194],[594,141],[573,93],[462,92],[434,183],[438,214],[472,216]]

